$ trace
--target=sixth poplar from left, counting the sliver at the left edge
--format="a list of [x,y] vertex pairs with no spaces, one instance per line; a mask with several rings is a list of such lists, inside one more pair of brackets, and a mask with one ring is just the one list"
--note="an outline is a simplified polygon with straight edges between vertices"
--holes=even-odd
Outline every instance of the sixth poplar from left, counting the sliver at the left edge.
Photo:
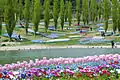
[[54,6],[53,6],[53,19],[54,19],[54,26],[55,26],[55,29],[57,29],[58,17],[59,17],[58,0],[54,0]]

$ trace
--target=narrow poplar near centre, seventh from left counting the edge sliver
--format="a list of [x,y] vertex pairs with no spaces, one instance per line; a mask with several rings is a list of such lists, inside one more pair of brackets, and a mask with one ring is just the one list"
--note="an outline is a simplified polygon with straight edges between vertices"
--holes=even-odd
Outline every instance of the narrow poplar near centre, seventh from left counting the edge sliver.
[[61,0],[60,2],[60,24],[61,24],[61,29],[63,30],[63,27],[64,27],[64,0]]

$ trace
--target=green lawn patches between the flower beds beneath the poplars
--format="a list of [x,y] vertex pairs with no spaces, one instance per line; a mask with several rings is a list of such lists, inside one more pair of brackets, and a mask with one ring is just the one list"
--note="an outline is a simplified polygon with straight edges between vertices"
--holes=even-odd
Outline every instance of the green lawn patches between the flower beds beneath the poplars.
[[[74,22],[75,24],[76,22]],[[82,23],[82,22],[81,22]],[[50,21],[50,26],[53,26],[53,20]],[[73,24],[72,24],[73,25]],[[65,24],[65,26],[67,27],[67,25]],[[93,31],[89,31],[87,36],[100,36],[100,34],[98,34],[96,32],[96,25],[93,24],[91,25],[93,27]],[[72,28],[75,28],[75,26],[71,26]],[[32,28],[31,28],[32,29]],[[3,27],[3,32],[2,33],[6,33],[5,31],[5,27]],[[44,30],[44,25],[39,25],[39,32],[42,32],[42,33],[45,33],[45,30]],[[109,24],[109,27],[108,27],[108,31],[112,31],[112,24]],[[34,34],[31,34],[31,33],[28,33],[28,35],[26,36],[26,33],[25,33],[25,29],[23,28],[15,28],[14,30],[15,33],[17,34],[20,34],[22,35],[23,37],[25,37],[27,39],[27,41],[25,42],[21,42],[21,45],[27,45],[27,44],[33,44],[31,43],[30,41],[31,40],[50,40],[49,38],[46,38],[46,37],[42,37],[41,35],[36,35],[34,36]],[[67,34],[67,33],[70,33],[70,32],[75,32],[75,30],[64,30],[64,31],[61,31],[61,28],[60,28],[60,23],[58,24],[58,30],[57,31],[50,31],[48,30],[47,34],[51,34],[51,33],[58,33],[58,34]],[[79,36],[79,34],[67,34],[66,36],[61,36],[59,39],[63,39],[63,38],[68,38],[68,36]],[[105,37],[106,39],[110,39],[110,38],[114,38],[115,42],[119,42],[120,41],[120,37]],[[44,43],[45,45],[81,45],[79,44],[79,40],[81,38],[72,38],[70,41],[68,42],[56,42],[56,43]],[[8,41],[9,38],[6,38],[6,37],[2,37],[2,41]],[[110,45],[110,43],[97,43],[97,44],[87,44],[87,45]]]

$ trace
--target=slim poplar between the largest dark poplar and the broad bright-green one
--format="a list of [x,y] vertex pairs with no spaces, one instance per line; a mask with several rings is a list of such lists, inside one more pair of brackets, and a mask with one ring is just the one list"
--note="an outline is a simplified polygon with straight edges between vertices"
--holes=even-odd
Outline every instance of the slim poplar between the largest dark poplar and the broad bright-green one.
[[25,0],[24,7],[25,31],[28,34],[29,20],[30,20],[30,0]]

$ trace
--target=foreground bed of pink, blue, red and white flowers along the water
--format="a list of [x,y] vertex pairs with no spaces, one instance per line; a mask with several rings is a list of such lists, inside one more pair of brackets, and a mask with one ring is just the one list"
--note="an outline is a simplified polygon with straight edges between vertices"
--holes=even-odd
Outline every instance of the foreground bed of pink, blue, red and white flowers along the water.
[[0,66],[0,78],[14,80],[117,80],[120,55],[51,58]]

